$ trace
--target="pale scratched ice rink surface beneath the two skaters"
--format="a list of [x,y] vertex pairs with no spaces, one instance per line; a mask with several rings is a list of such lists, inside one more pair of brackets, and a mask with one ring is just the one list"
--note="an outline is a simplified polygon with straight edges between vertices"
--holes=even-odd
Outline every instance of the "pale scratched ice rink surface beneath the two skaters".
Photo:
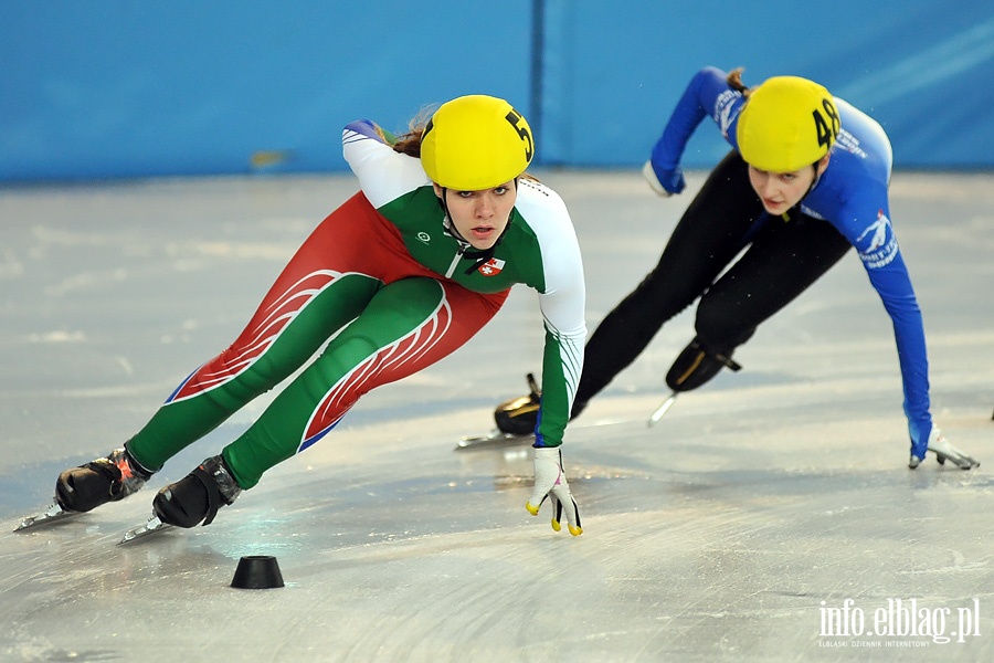
[[[538,173],[568,202],[588,323],[651,270],[702,181]],[[455,451],[538,371],[519,287],[456,355],[370,393],[209,527],[117,546],[161,485],[12,533],[56,475],[119,446],[231,343],[348,176],[0,189],[0,660],[994,660],[994,175],[898,172],[933,414],[982,465],[907,467],[891,325],[855,254],[760,328],[744,369],[655,428],[692,311],[568,432],[584,533],[525,509],[530,450]],[[276,556],[286,587],[233,589]],[[911,622],[911,625],[909,625]],[[913,629],[913,630],[912,630]]]

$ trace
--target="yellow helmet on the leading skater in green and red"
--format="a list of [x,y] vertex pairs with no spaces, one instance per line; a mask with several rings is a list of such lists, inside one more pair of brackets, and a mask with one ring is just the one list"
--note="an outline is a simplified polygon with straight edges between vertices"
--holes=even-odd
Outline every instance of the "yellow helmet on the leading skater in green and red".
[[533,155],[531,128],[521,114],[482,94],[442,104],[421,134],[421,165],[446,189],[491,189],[525,172]]

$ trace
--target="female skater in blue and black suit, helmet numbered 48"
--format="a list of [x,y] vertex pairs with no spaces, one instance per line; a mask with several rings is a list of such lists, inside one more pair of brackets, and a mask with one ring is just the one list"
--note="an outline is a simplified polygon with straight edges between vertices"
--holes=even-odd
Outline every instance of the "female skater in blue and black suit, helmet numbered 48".
[[[929,411],[924,329],[890,221],[892,159],[880,125],[805,78],[779,76],[750,90],[741,70],[707,67],[690,81],[643,168],[660,196],[684,189],[680,157],[708,115],[732,150],[690,202],[656,267],[591,335],[573,417],[695,299],[697,336],[666,383],[688,391],[722,367],[738,370],[736,348],[855,246],[893,322],[909,466],[932,451],[940,463],[975,467]],[[529,432],[539,401],[532,387],[501,404],[498,427]]]

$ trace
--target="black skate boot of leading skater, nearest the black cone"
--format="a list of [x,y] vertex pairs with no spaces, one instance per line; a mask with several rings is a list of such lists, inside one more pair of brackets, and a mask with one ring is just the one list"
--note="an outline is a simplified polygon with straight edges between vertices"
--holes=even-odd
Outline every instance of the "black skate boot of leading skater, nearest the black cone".
[[159,491],[152,511],[160,520],[177,527],[210,525],[218,509],[232,504],[242,492],[221,456],[213,456],[193,472]]

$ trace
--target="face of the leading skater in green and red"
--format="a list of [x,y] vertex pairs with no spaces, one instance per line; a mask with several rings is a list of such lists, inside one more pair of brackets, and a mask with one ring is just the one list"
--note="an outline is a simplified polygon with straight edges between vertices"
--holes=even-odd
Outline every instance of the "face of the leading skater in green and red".
[[507,228],[518,189],[514,180],[479,191],[453,191],[435,185],[435,196],[443,194],[456,231],[474,249],[486,250]]

